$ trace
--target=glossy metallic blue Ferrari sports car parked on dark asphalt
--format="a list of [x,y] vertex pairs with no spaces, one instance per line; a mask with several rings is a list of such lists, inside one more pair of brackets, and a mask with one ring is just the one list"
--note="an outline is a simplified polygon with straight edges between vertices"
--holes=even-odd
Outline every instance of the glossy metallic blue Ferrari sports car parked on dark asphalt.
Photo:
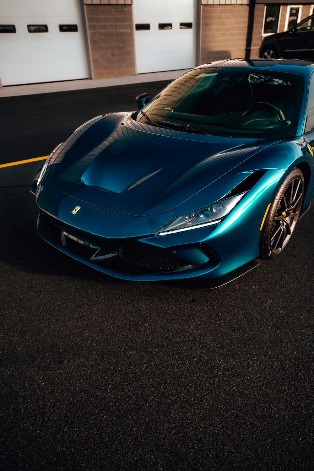
[[40,236],[108,275],[196,289],[280,254],[314,197],[314,64],[201,65],[137,106],[49,155]]

